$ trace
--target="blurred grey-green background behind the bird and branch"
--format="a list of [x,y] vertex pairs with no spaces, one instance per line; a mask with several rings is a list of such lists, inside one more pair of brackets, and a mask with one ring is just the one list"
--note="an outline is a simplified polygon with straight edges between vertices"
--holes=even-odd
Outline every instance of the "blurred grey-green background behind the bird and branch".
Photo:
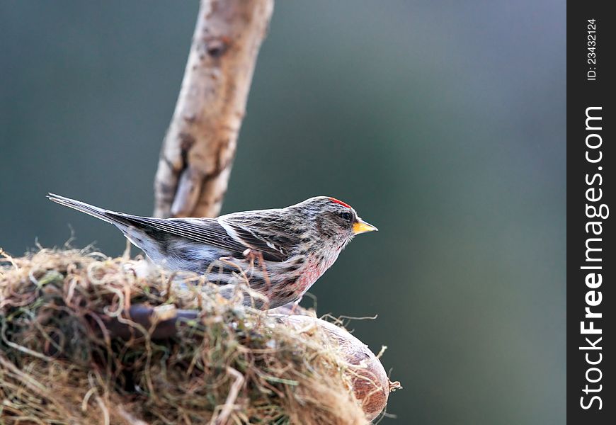
[[[149,215],[197,1],[0,2],[0,246]],[[387,424],[565,423],[565,2],[278,1],[224,212],[346,200],[312,288],[404,390]],[[305,305],[312,300],[304,298]]]

